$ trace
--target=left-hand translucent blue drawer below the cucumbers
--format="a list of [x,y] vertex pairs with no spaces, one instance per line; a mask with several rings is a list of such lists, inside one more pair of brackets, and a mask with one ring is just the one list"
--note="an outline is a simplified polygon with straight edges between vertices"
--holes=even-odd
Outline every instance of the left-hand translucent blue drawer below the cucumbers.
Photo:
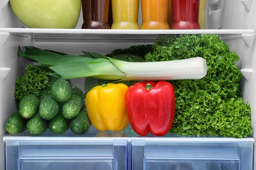
[[127,140],[6,141],[6,170],[127,170]]

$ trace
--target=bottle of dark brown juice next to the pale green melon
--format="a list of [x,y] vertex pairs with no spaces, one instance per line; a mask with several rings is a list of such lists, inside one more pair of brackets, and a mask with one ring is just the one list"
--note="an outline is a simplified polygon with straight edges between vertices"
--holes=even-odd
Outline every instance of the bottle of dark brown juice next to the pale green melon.
[[82,0],[84,23],[82,29],[110,29],[109,0]]

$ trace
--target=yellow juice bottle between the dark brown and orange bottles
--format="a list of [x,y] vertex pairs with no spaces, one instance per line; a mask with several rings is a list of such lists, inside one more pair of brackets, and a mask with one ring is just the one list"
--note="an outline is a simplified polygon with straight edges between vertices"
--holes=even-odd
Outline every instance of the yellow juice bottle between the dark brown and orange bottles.
[[111,29],[140,29],[138,24],[140,0],[111,0],[113,24]]

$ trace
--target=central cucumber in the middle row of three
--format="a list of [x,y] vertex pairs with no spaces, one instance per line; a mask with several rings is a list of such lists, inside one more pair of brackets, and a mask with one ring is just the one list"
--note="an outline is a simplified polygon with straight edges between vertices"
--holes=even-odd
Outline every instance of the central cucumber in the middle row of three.
[[51,95],[45,96],[39,106],[39,114],[43,119],[50,120],[58,114],[59,105]]

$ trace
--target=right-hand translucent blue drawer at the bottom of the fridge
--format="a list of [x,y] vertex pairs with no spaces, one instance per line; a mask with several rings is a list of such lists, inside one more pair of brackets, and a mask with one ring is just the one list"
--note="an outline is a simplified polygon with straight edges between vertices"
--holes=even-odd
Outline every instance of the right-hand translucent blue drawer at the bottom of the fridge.
[[253,142],[131,141],[132,170],[253,170]]

